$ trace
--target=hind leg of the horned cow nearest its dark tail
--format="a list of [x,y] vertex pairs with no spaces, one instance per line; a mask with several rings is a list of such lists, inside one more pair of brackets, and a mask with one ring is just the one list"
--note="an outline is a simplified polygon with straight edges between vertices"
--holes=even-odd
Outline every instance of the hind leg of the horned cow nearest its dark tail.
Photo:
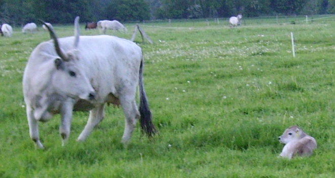
[[125,126],[124,126],[124,132],[122,136],[121,143],[127,144],[128,140],[131,136],[131,133],[136,125],[136,119],[140,118],[140,112],[137,109],[136,103],[135,103],[135,97],[132,97],[132,99],[126,99],[126,98],[120,98],[120,103],[123,109],[123,113],[125,116]]

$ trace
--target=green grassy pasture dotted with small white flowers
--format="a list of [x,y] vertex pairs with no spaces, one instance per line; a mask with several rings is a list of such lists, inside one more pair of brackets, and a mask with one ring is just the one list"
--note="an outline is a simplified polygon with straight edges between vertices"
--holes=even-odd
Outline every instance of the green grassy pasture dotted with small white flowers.
[[[122,110],[112,107],[84,143],[75,140],[88,113],[74,114],[64,147],[59,116],[40,123],[46,149],[34,148],[21,82],[30,52],[49,35],[14,28],[12,38],[0,38],[0,177],[333,177],[335,17],[280,20],[140,24],[154,42],[142,43],[139,33],[135,40],[159,135],[148,140],[137,128],[127,148]],[[125,25],[127,34],[108,34],[130,39],[134,24]],[[82,35],[99,34],[83,28]],[[54,29],[73,35],[72,25]],[[290,125],[316,138],[311,157],[277,158],[278,136]]]

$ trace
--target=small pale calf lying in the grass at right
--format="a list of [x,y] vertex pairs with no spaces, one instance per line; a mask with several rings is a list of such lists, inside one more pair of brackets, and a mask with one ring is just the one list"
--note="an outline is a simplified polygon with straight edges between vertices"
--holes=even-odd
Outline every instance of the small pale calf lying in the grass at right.
[[294,156],[310,156],[317,147],[316,140],[297,126],[287,128],[278,139],[280,143],[285,144],[279,156],[288,159]]

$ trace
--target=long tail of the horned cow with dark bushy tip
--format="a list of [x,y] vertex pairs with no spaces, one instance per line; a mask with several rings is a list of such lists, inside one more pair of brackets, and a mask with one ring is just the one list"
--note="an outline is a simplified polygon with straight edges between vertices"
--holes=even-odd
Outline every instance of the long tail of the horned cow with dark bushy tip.
[[144,65],[144,61],[142,58],[141,65],[140,65],[140,74],[139,74],[139,95],[140,95],[139,112],[141,114],[140,124],[141,124],[142,133],[145,132],[148,137],[152,137],[155,133],[157,133],[157,130],[152,123],[149,103],[148,103],[147,95],[145,94],[145,91],[144,91],[143,65]]

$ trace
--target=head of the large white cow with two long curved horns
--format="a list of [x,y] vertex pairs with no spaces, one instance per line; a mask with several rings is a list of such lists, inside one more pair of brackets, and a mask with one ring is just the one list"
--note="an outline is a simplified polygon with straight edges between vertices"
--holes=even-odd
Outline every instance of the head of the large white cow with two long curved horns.
[[60,95],[65,95],[66,97],[93,100],[95,91],[84,71],[86,68],[80,61],[80,53],[77,50],[79,43],[79,17],[75,19],[74,48],[65,53],[60,49],[53,29],[45,22],[42,21],[42,23],[48,28],[56,53],[59,56],[54,60],[56,70],[52,76],[53,87]]

